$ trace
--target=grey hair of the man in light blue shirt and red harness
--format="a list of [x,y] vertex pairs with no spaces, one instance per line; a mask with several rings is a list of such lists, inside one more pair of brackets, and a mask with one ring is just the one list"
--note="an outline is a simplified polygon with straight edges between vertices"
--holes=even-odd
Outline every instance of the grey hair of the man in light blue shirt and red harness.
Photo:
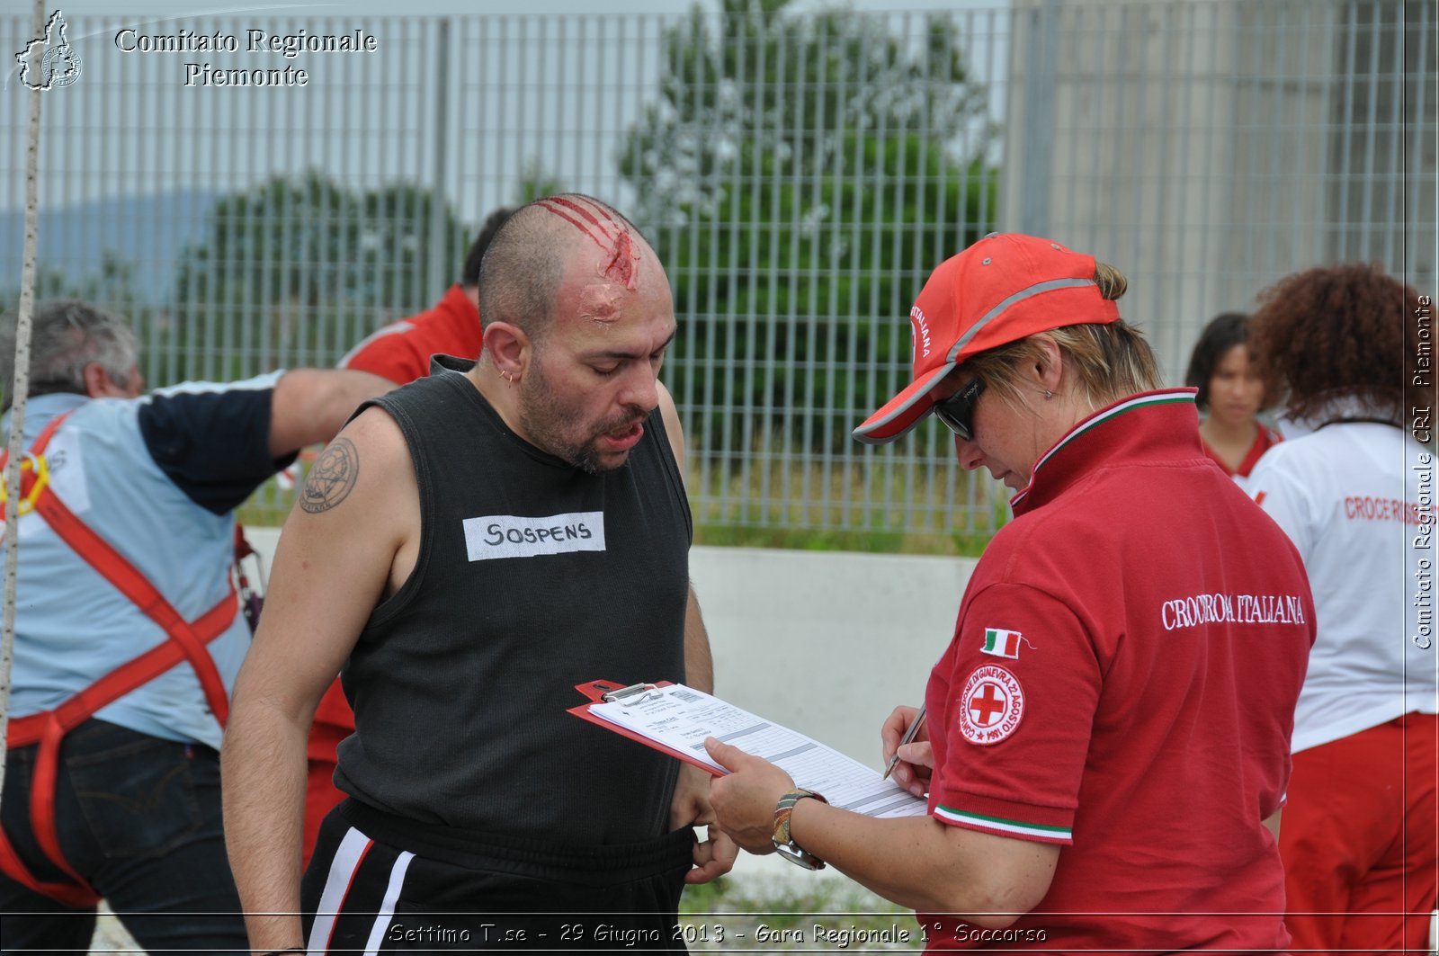
[[[14,392],[14,323],[7,315],[0,330],[0,371],[4,405]],[[79,299],[49,302],[35,311],[30,330],[30,394],[75,392],[86,394],[85,366],[99,364],[119,387],[130,384],[138,361],[135,333],[125,320]]]

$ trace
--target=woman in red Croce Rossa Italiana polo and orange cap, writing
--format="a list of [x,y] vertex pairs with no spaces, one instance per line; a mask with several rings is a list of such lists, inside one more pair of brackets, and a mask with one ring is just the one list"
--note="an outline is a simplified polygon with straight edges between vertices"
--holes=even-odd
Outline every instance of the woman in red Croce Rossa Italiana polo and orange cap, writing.
[[1124,285],[1048,239],[981,239],[931,274],[914,380],[855,430],[894,441],[932,410],[960,465],[1014,492],[935,642],[922,733],[898,747],[912,707],[882,729],[928,813],[830,806],[707,741],[741,847],[827,861],[935,949],[1288,944],[1275,828],[1314,605],[1294,546],[1206,458],[1193,390],[1158,387]]

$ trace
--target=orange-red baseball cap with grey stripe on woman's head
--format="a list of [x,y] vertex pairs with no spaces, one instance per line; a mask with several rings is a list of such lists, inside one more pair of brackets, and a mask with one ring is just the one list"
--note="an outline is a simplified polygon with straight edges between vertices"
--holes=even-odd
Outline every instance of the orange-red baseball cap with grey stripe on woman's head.
[[884,445],[912,429],[934,407],[934,387],[971,356],[1050,328],[1118,318],[1120,307],[1095,285],[1094,256],[1038,236],[990,233],[930,274],[909,310],[914,380],[853,435]]

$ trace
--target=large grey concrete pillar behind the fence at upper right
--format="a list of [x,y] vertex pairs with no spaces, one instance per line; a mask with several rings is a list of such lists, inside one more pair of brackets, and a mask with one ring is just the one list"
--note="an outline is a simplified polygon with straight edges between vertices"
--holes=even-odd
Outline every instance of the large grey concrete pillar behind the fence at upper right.
[[1379,261],[1429,288],[1432,9],[1013,0],[1002,227],[1118,266],[1171,384],[1210,317],[1289,272]]

